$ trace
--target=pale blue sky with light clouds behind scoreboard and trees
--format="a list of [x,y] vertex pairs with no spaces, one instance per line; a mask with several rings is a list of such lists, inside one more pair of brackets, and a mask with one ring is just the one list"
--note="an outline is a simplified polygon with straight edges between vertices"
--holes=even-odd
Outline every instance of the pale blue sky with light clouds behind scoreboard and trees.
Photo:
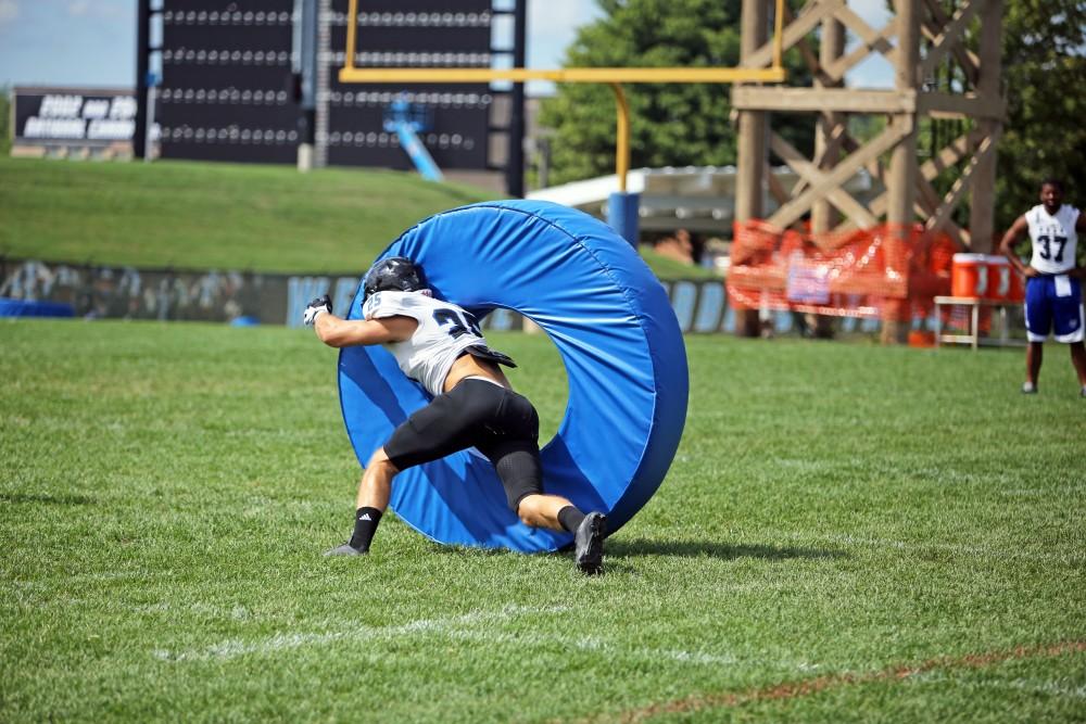
[[[848,4],[876,28],[887,17],[885,0]],[[0,0],[0,86],[134,86],[136,5],[136,0]],[[528,66],[560,67],[577,28],[599,15],[592,0],[528,0]],[[848,82],[885,88],[893,79],[888,64],[874,61],[856,68]],[[528,92],[550,88],[533,84]]]

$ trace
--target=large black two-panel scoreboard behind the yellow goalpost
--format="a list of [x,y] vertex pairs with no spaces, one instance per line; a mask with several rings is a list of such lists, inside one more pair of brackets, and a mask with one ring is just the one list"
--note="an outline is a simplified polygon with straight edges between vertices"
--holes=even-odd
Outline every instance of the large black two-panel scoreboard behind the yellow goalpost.
[[[411,168],[389,107],[406,100],[428,127],[419,138],[442,168],[485,169],[491,111],[488,84],[341,84],[348,0],[318,2],[317,155],[328,165]],[[156,116],[161,154],[293,163],[302,110],[295,0],[164,0],[162,85]],[[490,67],[491,0],[359,0],[357,67]]]

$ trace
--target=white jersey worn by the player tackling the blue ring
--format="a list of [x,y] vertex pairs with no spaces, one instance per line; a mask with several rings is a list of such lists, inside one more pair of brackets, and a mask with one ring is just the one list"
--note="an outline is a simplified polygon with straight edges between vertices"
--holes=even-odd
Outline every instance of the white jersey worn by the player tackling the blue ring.
[[377,292],[366,300],[362,312],[366,319],[411,317],[418,322],[411,338],[386,346],[404,374],[421,383],[434,397],[444,391],[453,363],[469,347],[489,359],[503,361],[504,355],[487,346],[471,313],[426,293]]

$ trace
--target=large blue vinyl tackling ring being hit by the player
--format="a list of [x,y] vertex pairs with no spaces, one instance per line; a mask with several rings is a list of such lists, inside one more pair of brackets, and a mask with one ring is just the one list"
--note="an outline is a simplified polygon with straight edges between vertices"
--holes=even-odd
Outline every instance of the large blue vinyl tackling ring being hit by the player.
[[[539,323],[558,347],[569,402],[542,450],[544,490],[616,531],[648,501],[674,457],[686,418],[682,332],[660,282],[609,227],[557,204],[503,201],[431,216],[381,255],[420,264],[434,295],[482,318],[505,307]],[[362,318],[359,289],[348,318]],[[531,370],[526,370],[530,374]],[[429,396],[383,347],[346,347],[340,404],[363,465]],[[444,544],[556,550],[567,533],[531,529],[509,509],[490,462],[472,452],[408,469],[391,506]]]

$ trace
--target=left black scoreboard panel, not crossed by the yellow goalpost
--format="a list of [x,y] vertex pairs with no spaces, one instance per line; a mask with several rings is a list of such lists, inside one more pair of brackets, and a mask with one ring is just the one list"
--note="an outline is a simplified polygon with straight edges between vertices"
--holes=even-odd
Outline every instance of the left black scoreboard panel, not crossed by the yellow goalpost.
[[294,163],[294,0],[164,0],[164,158]]

